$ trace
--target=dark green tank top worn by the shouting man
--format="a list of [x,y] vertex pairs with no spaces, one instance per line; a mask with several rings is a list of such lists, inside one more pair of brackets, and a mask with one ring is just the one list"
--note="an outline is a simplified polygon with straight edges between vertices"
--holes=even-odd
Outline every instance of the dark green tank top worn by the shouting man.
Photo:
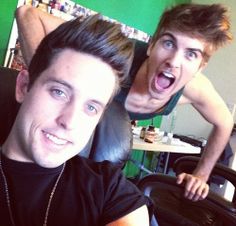
[[[127,86],[123,87],[121,91],[118,93],[118,95],[115,97],[115,100],[119,101],[124,105],[125,100],[128,96],[130,87],[135,80],[135,76],[137,75],[137,72],[143,62],[147,59],[147,48],[148,44],[142,41],[135,40],[135,49],[134,49],[134,60],[131,66],[131,70],[129,73],[129,80],[127,82]],[[162,111],[158,113],[146,113],[146,114],[140,114],[140,113],[134,113],[134,112],[128,112],[130,119],[133,120],[144,120],[144,119],[150,119],[157,115],[168,115],[172,110],[175,108],[179,98],[181,97],[183,93],[183,89],[179,90],[176,94],[174,94],[169,102],[166,104],[166,106],[163,108]]]

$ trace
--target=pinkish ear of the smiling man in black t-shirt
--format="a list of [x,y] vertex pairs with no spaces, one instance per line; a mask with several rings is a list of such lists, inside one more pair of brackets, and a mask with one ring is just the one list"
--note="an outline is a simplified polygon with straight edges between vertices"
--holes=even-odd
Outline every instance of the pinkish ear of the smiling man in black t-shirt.
[[29,72],[22,70],[16,79],[16,100],[19,103],[24,101],[25,95],[28,93],[29,88]]

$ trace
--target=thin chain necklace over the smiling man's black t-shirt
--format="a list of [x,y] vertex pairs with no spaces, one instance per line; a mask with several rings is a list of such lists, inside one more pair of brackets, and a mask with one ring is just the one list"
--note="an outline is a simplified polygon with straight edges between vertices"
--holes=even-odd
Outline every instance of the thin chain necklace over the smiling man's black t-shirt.
[[[58,175],[57,180],[56,180],[56,182],[55,182],[55,184],[54,184],[54,186],[52,188],[52,191],[51,191],[51,194],[50,194],[50,197],[49,197],[49,200],[48,200],[48,205],[47,205],[47,209],[46,209],[46,213],[45,213],[45,217],[44,217],[43,226],[47,226],[49,210],[50,210],[50,207],[51,207],[52,198],[53,198],[53,196],[55,194],[58,182],[61,179],[61,176],[62,176],[62,174],[64,172],[65,165],[66,165],[66,163],[63,164],[61,172]],[[12,209],[11,209],[11,201],[10,201],[10,195],[9,195],[9,188],[8,188],[8,184],[7,184],[7,179],[6,179],[6,175],[5,175],[4,171],[3,171],[3,167],[2,167],[1,153],[0,153],[0,171],[1,171],[1,174],[2,174],[2,177],[3,177],[5,194],[6,194],[6,200],[7,200],[7,207],[8,207],[8,211],[9,211],[9,215],[10,215],[10,219],[11,219],[11,224],[12,224],[12,226],[16,226],[14,218],[13,218],[13,214],[12,214]]]

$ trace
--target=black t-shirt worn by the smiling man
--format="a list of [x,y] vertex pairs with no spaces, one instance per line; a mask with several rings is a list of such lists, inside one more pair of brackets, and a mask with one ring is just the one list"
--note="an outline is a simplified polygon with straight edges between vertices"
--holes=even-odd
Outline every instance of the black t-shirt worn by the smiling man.
[[[43,225],[54,183],[62,169],[42,168],[2,156],[17,226]],[[148,200],[108,161],[74,157],[67,161],[49,210],[48,226],[106,225]],[[3,177],[0,175],[0,225],[10,224]]]

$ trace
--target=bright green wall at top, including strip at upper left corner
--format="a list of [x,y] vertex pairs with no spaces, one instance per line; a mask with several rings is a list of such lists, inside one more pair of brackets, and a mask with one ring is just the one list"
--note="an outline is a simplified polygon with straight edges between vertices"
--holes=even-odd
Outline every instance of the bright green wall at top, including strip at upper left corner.
[[[191,0],[74,0],[138,30],[153,34],[163,10]],[[18,0],[1,0],[0,4],[0,65],[3,65]]]

